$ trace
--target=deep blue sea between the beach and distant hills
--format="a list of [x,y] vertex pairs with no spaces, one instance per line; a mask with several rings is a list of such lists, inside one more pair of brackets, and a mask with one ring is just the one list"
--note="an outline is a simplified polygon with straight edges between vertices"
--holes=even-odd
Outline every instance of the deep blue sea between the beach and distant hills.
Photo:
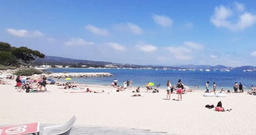
[[[200,70],[155,70],[155,69],[117,69],[117,68],[61,68],[47,69],[54,73],[111,73],[112,77],[77,77],[71,81],[88,85],[105,85],[110,86],[114,79],[117,79],[117,85],[122,86],[124,81],[132,80],[132,87],[145,87],[147,82],[152,82],[155,85],[153,88],[166,88],[167,80],[170,80],[172,85],[176,85],[181,79],[184,85],[190,89],[205,90],[205,83],[209,81],[209,90],[212,90],[213,83],[217,85],[217,90],[234,90],[235,82],[242,83],[244,90],[249,91],[252,85],[256,86],[256,72],[243,72],[242,70],[230,70],[230,72],[221,72],[220,70],[211,70],[210,72]],[[66,81],[64,78],[53,78],[55,81]],[[157,87],[160,85],[159,87]]]

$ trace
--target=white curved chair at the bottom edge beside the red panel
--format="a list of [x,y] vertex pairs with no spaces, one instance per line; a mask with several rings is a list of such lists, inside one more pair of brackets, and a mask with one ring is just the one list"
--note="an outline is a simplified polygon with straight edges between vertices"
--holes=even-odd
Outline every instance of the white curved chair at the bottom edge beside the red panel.
[[47,135],[50,131],[54,131],[54,130],[58,130],[59,133],[53,133],[51,135],[69,135],[69,133],[71,132],[71,129],[72,129],[75,121],[76,121],[76,117],[73,116],[65,124],[44,127],[42,135]]

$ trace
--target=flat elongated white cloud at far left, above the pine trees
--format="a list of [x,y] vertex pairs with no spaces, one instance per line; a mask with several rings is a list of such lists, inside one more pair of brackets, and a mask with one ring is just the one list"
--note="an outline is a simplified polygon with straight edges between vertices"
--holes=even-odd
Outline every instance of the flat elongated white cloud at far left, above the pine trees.
[[28,32],[27,30],[24,30],[24,29],[19,29],[19,30],[7,29],[6,31],[9,34],[15,35],[17,37],[41,37],[42,35],[44,35],[42,34],[42,32],[39,32],[38,30]]

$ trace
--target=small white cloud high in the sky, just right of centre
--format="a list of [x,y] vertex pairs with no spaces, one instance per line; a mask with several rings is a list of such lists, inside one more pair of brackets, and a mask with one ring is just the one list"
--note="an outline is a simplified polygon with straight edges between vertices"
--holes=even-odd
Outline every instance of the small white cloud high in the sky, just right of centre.
[[152,18],[154,19],[156,24],[159,24],[162,27],[170,27],[172,26],[172,19],[167,16],[159,16],[157,14],[153,14]]

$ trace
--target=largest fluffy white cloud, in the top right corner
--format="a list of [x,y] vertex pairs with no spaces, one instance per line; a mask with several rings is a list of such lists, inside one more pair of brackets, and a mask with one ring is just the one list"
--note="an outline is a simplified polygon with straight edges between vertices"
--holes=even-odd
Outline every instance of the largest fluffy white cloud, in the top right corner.
[[[250,12],[245,12],[244,4],[237,3],[236,5],[236,9],[229,9],[225,6],[215,7],[214,15],[211,17],[210,21],[216,27],[226,27],[230,30],[242,30],[256,24],[256,15],[251,14]],[[232,18],[234,10],[242,12],[242,14],[235,14],[235,17],[238,17],[238,19]],[[237,22],[229,21],[229,19],[237,20]]]

